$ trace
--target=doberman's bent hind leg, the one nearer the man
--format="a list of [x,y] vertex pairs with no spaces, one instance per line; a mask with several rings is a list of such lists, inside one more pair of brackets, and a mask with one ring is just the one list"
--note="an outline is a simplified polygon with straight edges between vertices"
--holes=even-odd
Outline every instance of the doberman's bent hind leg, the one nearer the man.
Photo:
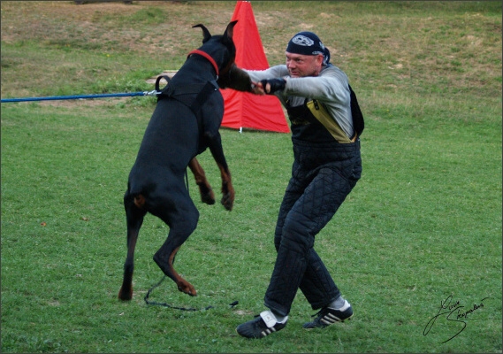
[[199,212],[188,193],[183,200],[177,200],[176,209],[176,212],[164,209],[162,212],[156,213],[156,216],[163,219],[170,227],[170,233],[163,246],[154,255],[154,261],[164,274],[169,276],[172,281],[175,281],[179,291],[190,296],[196,296],[197,292],[194,286],[179,275],[173,267],[173,263],[180,246],[187,241],[188,236],[197,227]]

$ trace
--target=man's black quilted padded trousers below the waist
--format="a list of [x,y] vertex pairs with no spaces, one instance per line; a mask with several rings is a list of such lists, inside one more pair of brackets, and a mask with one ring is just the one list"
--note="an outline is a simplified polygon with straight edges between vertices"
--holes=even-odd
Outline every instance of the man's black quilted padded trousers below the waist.
[[360,142],[313,144],[293,140],[292,178],[279,209],[276,264],[264,304],[286,316],[297,289],[314,310],[340,292],[313,249],[315,236],[332,219],[361,177]]

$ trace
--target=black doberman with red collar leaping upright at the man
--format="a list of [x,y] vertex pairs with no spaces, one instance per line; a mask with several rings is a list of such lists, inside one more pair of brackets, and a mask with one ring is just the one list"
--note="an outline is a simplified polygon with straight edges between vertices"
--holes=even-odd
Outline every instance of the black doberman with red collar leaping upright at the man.
[[203,25],[195,25],[202,28],[202,47],[189,53],[185,64],[157,97],[124,196],[127,257],[118,292],[121,300],[133,296],[134,247],[147,212],[170,227],[166,241],[154,255],[157,266],[176,282],[180,291],[196,295],[194,286],[175,271],[173,261],[199,219],[184,182],[187,166],[194,173],[202,202],[215,203],[210,183],[195,158],[206,148],[210,148],[222,176],[221,203],[232,210],[234,189],[218,131],[224,115],[224,99],[218,89],[251,92],[252,88],[248,73],[234,63],[232,32],[236,22],[229,23],[224,35],[214,36]]

